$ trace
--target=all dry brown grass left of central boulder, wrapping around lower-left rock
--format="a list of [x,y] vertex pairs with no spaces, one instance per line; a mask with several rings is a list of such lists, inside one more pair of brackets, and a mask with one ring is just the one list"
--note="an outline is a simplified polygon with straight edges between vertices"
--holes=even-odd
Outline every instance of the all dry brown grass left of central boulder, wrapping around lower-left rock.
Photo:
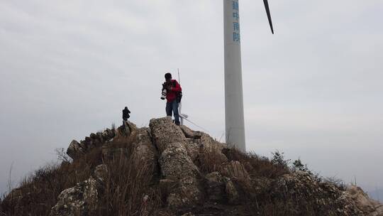
[[[49,215],[62,190],[87,180],[94,168],[104,163],[108,173],[104,176],[104,190],[100,191],[99,207],[91,215],[145,215],[161,205],[161,195],[154,181],[153,167],[133,161],[134,135],[118,134],[107,148],[119,149],[113,157],[102,157],[102,148],[93,148],[73,163],[63,162],[38,169],[21,181],[20,187],[0,203],[0,216]],[[148,200],[143,198],[148,195]],[[150,203],[150,205],[149,205]]]

